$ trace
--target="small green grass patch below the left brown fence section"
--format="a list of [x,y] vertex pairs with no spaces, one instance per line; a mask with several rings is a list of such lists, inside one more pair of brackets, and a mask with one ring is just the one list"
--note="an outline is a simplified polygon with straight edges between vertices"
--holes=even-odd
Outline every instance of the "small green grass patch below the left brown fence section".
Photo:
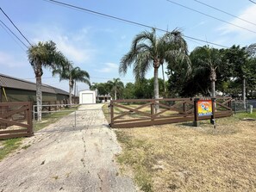
[[21,145],[22,138],[7,139],[1,141],[0,161],[5,158],[10,152],[14,152]]

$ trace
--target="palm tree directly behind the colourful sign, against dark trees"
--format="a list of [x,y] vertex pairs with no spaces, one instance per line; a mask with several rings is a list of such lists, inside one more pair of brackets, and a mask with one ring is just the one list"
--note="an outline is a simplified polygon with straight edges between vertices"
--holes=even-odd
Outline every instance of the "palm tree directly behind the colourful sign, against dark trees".
[[198,46],[190,53],[191,62],[197,65],[197,73],[209,71],[211,96],[215,97],[216,69],[222,65],[222,57],[218,49],[209,46]]

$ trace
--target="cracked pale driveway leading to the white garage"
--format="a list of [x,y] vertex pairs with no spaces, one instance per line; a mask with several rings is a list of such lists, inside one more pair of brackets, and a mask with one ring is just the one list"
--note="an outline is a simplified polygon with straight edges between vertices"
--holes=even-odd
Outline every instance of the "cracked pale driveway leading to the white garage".
[[[79,110],[98,108],[86,105]],[[77,112],[25,139],[28,149],[0,162],[0,192],[135,191],[118,174],[114,156],[121,151],[101,110]]]

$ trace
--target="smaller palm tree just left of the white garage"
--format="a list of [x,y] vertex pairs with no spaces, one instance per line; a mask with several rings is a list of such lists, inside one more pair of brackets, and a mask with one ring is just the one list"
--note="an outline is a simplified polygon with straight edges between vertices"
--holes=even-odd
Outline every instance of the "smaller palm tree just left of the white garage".
[[90,85],[90,75],[87,71],[83,71],[80,67],[73,67],[72,62],[65,59],[62,66],[53,70],[53,75],[59,74],[59,81],[69,81],[69,104],[72,104],[72,90],[75,82],[83,82]]

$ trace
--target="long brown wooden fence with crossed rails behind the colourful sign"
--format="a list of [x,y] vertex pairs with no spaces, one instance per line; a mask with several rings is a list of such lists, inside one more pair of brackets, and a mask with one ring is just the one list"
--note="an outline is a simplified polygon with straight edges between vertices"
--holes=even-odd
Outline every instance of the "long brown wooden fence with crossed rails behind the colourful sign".
[[[231,97],[216,98],[215,118],[232,115]],[[110,127],[146,127],[194,121],[194,98],[131,99],[110,102]],[[198,117],[198,120],[210,119]]]

